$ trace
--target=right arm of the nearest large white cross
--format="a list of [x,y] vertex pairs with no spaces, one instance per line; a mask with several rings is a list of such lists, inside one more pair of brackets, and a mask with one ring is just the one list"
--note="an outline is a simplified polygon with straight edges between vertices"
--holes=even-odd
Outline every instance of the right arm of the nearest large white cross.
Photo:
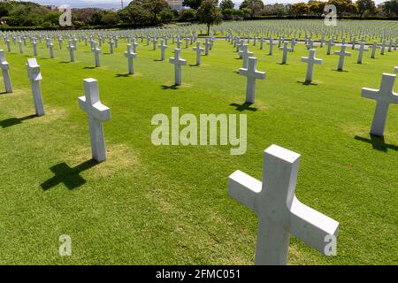
[[325,237],[327,235],[337,237],[338,229],[339,222],[300,203],[294,197],[290,207],[290,233],[298,239],[325,254],[325,245],[328,243]]

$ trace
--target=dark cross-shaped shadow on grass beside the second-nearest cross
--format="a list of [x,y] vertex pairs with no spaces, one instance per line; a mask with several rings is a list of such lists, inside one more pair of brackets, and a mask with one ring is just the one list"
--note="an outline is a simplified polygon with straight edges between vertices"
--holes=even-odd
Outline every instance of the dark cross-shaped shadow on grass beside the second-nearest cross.
[[90,159],[74,167],[69,167],[65,162],[54,165],[50,168],[50,171],[54,173],[54,177],[46,180],[40,186],[45,191],[51,187],[56,187],[60,183],[63,183],[69,189],[80,187],[87,183],[87,180],[80,176],[80,172],[88,170],[96,166],[96,164],[98,164],[96,160]]

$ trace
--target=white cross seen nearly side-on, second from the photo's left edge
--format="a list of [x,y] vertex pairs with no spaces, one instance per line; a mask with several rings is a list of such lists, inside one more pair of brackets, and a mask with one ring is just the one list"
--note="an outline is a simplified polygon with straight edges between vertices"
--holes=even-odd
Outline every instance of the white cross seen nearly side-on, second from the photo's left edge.
[[27,76],[30,80],[30,86],[32,88],[36,115],[42,116],[44,115],[44,106],[42,104],[42,88],[40,88],[42,73],[40,72],[40,65],[37,64],[36,58],[27,59]]

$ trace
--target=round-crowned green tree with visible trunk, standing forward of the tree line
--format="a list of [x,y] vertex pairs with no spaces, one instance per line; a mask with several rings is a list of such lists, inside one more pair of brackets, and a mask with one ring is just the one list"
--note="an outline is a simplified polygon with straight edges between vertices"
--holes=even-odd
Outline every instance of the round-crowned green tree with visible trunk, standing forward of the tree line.
[[223,21],[223,14],[218,8],[218,0],[203,0],[196,12],[198,21],[207,26],[207,35],[211,25],[219,25]]

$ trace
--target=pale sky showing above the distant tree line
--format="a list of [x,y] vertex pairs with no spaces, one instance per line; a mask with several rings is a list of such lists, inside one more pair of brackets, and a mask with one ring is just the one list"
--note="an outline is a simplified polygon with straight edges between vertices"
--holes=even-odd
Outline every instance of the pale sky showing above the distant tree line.
[[[69,4],[73,8],[83,8],[83,7],[99,7],[104,9],[119,9],[121,7],[121,0],[30,0],[35,3],[44,4],[44,5],[61,5],[61,4]],[[123,0],[124,5],[130,3],[131,0]],[[376,4],[383,2],[384,0],[375,0]],[[242,0],[233,0],[235,6],[239,6]],[[307,0],[264,0],[264,4],[273,4],[273,3],[298,3],[298,2],[307,2]]]

